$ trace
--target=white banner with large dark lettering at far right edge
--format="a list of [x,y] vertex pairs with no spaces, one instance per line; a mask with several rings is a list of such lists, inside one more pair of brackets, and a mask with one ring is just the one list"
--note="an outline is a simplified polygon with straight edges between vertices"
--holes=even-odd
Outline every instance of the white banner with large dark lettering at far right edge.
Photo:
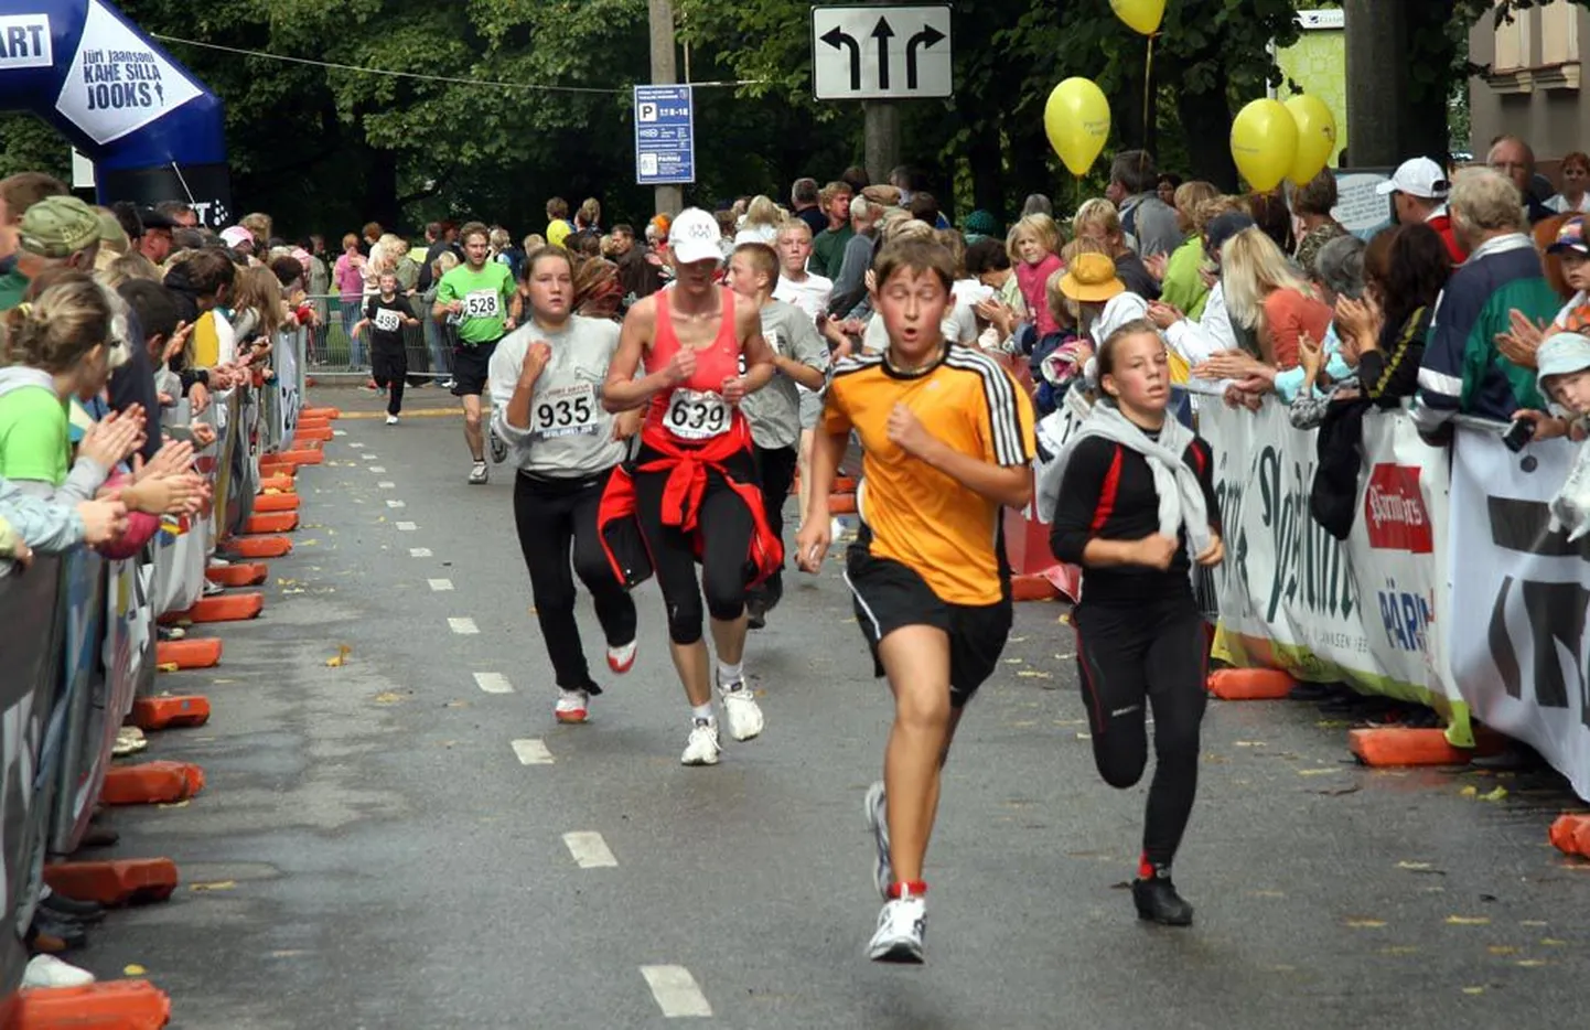
[[1452,671],[1474,715],[1533,745],[1590,798],[1585,606],[1590,539],[1568,542],[1547,504],[1577,445],[1509,451],[1460,429],[1452,470]]

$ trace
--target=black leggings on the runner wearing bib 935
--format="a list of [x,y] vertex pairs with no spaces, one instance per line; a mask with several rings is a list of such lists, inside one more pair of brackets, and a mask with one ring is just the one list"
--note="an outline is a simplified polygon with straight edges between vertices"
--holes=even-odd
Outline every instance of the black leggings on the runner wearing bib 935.
[[529,567],[541,636],[563,690],[601,693],[585,664],[580,628],[574,621],[576,574],[596,602],[607,645],[620,647],[634,639],[634,599],[614,575],[596,534],[596,509],[611,474],[550,480],[520,472],[514,483],[518,547]]

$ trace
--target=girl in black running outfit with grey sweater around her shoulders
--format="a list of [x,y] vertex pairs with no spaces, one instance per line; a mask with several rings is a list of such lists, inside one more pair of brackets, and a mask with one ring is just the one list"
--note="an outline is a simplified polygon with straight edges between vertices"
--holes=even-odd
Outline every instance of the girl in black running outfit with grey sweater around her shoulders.
[[[1180,472],[1183,518],[1172,537],[1161,523],[1154,459],[1129,442],[1084,429],[1083,439],[1062,456],[1049,537],[1057,560],[1084,569],[1083,601],[1072,614],[1076,660],[1094,761],[1111,787],[1132,787],[1142,779],[1148,761],[1145,704],[1154,711],[1154,779],[1148,788],[1138,879],[1132,884],[1138,916],[1188,925],[1192,906],[1177,895],[1170,863],[1197,787],[1207,647],[1204,620],[1192,601],[1194,558],[1186,520],[1202,507],[1208,532],[1199,528],[1194,534],[1205,540],[1196,560],[1218,564],[1223,547],[1212,455],[1208,443],[1165,413],[1169,364],[1151,324],[1129,323],[1105,340],[1099,378],[1105,393],[1099,405],[1108,407],[1102,413],[1118,424],[1119,416],[1129,423],[1116,436],[1140,439],[1167,456],[1173,453],[1192,474]],[[1170,478],[1165,469],[1161,478]],[[1196,494],[1202,494],[1202,505]]]

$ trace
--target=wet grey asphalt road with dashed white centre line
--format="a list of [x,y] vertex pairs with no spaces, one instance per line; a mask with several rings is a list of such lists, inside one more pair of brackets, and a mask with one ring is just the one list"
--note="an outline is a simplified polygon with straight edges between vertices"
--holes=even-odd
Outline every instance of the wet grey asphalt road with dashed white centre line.
[[[320,401],[377,409],[348,391]],[[418,389],[409,407],[448,401]],[[1124,885],[1143,788],[1094,772],[1056,604],[1019,607],[1005,668],[962,725],[929,854],[927,965],[868,963],[860,807],[890,704],[838,566],[795,575],[752,637],[765,736],[725,734],[720,766],[687,769],[653,585],[636,669],[590,725],[558,726],[510,472],[466,486],[452,416],[337,428],[328,464],[299,475],[307,525],[272,563],[264,615],[226,628],[221,668],[164,677],[215,715],[156,734],[148,757],[200,763],[208,787],[111,815],[110,855],[170,855],[183,887],[114,914],[75,960],[105,978],[143,966],[173,1027],[1582,1019],[1590,863],[1545,842],[1571,795],[1356,768],[1313,706],[1212,703],[1177,863],[1197,925],[1138,924]],[[588,601],[580,618],[599,663]]]

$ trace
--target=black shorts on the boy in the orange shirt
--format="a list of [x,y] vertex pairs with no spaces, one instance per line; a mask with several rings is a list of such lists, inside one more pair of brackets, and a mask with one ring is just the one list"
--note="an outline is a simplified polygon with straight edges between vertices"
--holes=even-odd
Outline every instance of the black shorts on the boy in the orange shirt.
[[844,582],[855,618],[873,652],[873,676],[882,676],[878,644],[905,626],[933,626],[949,634],[949,703],[962,707],[999,668],[1010,636],[1010,594],[994,604],[949,604],[914,569],[874,556],[867,531],[844,555]]

